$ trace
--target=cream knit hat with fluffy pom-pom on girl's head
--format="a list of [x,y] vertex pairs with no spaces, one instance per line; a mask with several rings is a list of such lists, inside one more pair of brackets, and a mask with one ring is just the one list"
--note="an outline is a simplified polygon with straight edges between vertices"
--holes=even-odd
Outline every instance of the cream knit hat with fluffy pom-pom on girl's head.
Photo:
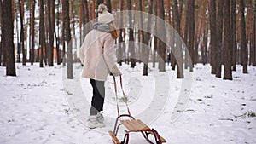
[[108,12],[108,8],[104,4],[100,4],[98,6],[98,13],[99,13],[98,22],[100,23],[108,24],[114,20],[113,14],[110,14]]

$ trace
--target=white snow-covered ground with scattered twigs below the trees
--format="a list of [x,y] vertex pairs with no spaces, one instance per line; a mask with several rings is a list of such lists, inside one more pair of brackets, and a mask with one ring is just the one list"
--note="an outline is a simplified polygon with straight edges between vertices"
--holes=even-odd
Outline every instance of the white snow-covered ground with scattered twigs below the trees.
[[[210,66],[196,65],[184,80],[176,79],[176,72],[168,67],[167,72],[150,68],[149,76],[143,77],[142,67],[120,66],[131,113],[158,130],[168,144],[256,143],[256,67],[249,66],[249,74],[242,74],[237,66],[233,81],[215,78]],[[80,66],[74,70],[79,72]],[[5,68],[0,67],[1,144],[112,143],[108,130],[113,130],[116,117],[113,79],[109,77],[106,83],[103,115],[107,126],[89,130],[84,121],[90,107],[90,83],[78,74],[69,81],[62,73],[61,66],[17,64],[18,77],[6,77]],[[125,107],[121,101],[121,108]],[[177,103],[185,109],[177,109]],[[147,141],[133,134],[131,143]]]

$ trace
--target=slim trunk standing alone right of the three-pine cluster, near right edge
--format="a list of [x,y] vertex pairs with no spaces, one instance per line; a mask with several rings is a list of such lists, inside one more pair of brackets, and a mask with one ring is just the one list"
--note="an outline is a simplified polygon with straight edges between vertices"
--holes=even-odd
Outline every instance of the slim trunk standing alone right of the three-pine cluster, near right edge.
[[240,0],[240,11],[241,11],[241,63],[242,63],[242,72],[247,72],[247,41],[246,41],[246,24],[244,16],[244,2]]

